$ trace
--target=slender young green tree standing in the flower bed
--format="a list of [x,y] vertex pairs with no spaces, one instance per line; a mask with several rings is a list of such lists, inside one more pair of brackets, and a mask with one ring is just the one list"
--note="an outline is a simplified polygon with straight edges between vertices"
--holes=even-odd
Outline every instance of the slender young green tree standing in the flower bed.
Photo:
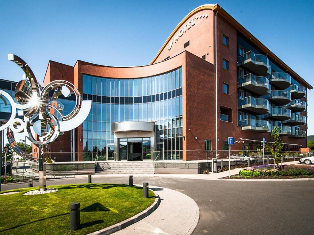
[[280,153],[282,148],[284,147],[284,143],[280,138],[281,129],[279,127],[274,127],[271,133],[271,136],[274,139],[273,144],[267,144],[266,150],[271,152],[274,157],[274,167],[275,165],[279,166],[279,163],[282,162],[282,154]]

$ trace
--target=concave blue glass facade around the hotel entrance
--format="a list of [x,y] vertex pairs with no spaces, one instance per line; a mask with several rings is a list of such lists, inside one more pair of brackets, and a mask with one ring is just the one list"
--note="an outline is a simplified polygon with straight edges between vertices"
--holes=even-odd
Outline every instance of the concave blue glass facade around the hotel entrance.
[[[162,143],[165,159],[182,158],[175,152],[182,150],[183,136],[181,67],[137,79],[83,74],[83,100],[92,100],[91,111],[83,123],[84,152],[98,153],[98,160],[113,160],[109,156],[114,143],[111,123],[155,121],[157,149]],[[94,160],[96,153],[84,154],[84,160]]]

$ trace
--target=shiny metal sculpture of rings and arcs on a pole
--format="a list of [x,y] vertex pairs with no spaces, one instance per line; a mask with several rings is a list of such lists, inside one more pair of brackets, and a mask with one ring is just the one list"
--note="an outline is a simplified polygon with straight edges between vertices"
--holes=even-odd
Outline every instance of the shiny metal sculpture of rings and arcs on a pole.
[[[7,129],[8,142],[12,149],[21,157],[30,161],[39,161],[40,190],[46,189],[46,164],[54,163],[48,152],[47,145],[57,139],[59,134],[78,127],[89,114],[91,101],[82,101],[78,89],[70,82],[56,80],[41,87],[29,65],[19,56],[8,54],[8,60],[13,61],[25,72],[23,80],[15,87],[15,99],[0,89],[0,99],[5,106],[11,104],[12,113],[8,122],[0,126],[0,131]],[[75,96],[75,106],[68,115],[63,115],[63,105],[58,98],[63,95]],[[23,120],[22,120],[23,118]],[[14,132],[24,135],[38,147],[38,156],[27,154],[19,148],[14,138]]]

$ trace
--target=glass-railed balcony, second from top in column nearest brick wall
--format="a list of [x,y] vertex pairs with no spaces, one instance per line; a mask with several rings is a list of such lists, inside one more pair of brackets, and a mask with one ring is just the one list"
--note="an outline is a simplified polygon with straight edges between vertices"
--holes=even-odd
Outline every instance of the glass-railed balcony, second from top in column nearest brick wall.
[[268,78],[263,76],[255,76],[252,73],[247,74],[244,77],[239,77],[238,87],[246,88],[247,90],[253,91],[260,96],[270,93]]

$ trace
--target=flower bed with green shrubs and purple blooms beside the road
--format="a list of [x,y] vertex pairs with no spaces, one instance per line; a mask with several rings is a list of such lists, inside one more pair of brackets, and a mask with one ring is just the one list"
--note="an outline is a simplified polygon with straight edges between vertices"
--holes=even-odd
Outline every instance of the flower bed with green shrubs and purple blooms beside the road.
[[273,165],[259,165],[240,170],[239,175],[233,178],[308,178],[314,177],[314,167],[299,165],[283,165],[275,167]]

